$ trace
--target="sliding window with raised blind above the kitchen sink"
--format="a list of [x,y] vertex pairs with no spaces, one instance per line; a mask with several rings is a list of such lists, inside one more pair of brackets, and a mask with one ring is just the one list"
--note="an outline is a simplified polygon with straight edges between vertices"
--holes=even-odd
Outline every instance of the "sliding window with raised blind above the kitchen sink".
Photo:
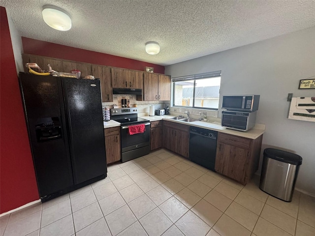
[[173,105],[218,110],[221,71],[172,79]]

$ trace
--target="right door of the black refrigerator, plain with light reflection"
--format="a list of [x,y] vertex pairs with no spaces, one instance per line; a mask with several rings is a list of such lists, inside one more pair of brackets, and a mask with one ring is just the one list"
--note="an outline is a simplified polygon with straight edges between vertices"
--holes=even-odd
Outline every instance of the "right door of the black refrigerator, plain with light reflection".
[[106,175],[99,80],[63,78],[74,183]]

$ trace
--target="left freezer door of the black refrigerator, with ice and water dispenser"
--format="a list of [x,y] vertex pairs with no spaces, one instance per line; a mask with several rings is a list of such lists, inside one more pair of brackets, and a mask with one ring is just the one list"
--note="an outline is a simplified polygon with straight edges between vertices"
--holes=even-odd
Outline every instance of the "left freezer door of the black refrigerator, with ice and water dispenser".
[[73,185],[61,81],[21,73],[19,78],[41,198]]

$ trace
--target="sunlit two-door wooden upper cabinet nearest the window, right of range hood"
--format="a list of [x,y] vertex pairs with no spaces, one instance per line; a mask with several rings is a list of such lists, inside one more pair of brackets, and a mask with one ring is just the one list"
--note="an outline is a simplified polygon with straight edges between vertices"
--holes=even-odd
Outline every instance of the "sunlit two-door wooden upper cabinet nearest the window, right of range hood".
[[171,77],[144,73],[144,100],[169,101],[171,100]]

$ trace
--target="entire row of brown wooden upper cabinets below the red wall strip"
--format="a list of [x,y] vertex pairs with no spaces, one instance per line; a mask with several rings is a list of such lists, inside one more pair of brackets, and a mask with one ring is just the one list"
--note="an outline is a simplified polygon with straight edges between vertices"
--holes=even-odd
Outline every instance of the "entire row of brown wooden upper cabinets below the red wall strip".
[[[71,70],[81,71],[81,78],[93,75],[100,79],[102,101],[113,102],[113,88],[142,89],[142,94],[136,95],[137,101],[169,101],[171,100],[171,77],[136,70],[108,67],[90,63],[70,61],[22,54],[23,63],[37,63],[40,68],[48,70],[48,64],[58,72],[70,73]],[[29,69],[24,67],[25,72]]]

